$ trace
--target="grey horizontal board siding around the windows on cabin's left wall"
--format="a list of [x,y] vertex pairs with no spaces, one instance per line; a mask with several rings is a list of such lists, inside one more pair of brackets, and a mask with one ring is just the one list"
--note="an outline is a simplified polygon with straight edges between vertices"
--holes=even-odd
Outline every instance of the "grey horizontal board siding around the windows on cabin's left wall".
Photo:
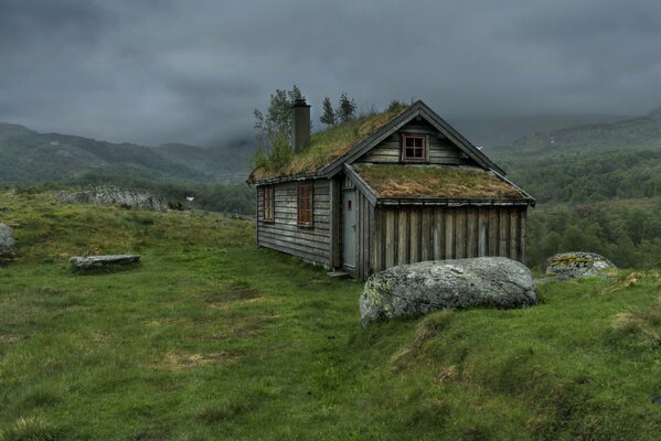
[[[297,225],[297,182],[275,185],[274,222],[264,222],[264,187],[257,187],[257,245],[331,266],[331,181],[314,180],[313,225]],[[337,234],[333,239],[337,240]]]

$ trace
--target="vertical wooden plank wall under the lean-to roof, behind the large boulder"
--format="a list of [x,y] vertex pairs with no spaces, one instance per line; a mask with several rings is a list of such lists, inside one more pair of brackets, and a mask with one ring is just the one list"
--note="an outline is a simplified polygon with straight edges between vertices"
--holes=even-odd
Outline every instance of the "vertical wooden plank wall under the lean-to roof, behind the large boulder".
[[398,206],[369,213],[371,255],[361,277],[424,260],[505,256],[525,262],[523,206]]

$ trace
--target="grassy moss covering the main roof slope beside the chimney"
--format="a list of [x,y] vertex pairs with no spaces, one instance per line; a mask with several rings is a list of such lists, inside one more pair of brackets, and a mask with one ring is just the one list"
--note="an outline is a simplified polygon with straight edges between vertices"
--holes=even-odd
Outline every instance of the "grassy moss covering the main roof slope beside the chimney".
[[310,137],[310,146],[292,155],[284,166],[260,166],[253,171],[250,180],[314,173],[362,142],[370,135],[406,111],[409,106],[397,106],[379,114],[370,114],[341,122]]

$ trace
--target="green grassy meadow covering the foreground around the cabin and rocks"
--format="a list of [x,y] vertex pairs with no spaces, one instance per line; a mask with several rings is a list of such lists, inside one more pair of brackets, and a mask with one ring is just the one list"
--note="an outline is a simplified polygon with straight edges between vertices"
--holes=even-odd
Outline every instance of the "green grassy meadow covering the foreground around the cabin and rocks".
[[[0,440],[658,439],[658,273],[360,326],[361,286],[203,213],[0,194]],[[67,258],[139,252],[84,276]],[[652,337],[650,337],[652,336]]]

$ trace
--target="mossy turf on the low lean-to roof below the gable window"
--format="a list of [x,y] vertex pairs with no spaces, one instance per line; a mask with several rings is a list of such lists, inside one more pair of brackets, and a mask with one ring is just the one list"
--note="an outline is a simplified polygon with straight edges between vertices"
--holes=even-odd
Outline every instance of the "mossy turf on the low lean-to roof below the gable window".
[[379,197],[519,200],[526,196],[489,171],[448,165],[353,165]]

